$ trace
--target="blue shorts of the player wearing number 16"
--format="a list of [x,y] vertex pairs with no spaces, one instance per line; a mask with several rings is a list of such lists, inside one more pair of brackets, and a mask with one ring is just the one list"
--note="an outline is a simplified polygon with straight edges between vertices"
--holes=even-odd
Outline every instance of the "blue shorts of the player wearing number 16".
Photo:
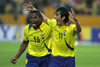
[[50,55],[46,55],[44,57],[35,57],[27,53],[26,58],[26,67],[48,67],[50,62]]

